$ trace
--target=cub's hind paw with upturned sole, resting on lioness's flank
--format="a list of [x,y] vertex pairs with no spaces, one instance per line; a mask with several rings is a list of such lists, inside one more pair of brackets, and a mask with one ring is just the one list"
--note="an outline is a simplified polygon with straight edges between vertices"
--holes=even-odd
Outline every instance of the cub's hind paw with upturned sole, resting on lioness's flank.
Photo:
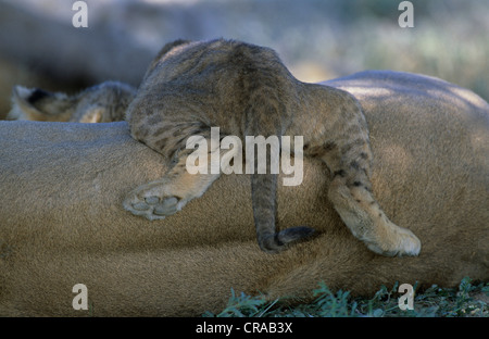
[[148,184],[129,192],[123,205],[134,215],[160,221],[180,211],[185,203],[183,199],[170,194],[164,185]]

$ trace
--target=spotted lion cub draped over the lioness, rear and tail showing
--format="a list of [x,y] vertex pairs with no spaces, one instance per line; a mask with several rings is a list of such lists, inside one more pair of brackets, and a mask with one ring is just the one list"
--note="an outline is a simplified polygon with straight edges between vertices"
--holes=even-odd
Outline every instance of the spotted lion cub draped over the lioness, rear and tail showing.
[[[186,171],[193,151],[186,149],[190,136],[210,140],[214,126],[241,140],[303,136],[304,155],[329,168],[328,197],[352,234],[376,253],[419,253],[416,236],[390,222],[373,198],[373,155],[359,102],[346,91],[299,81],[272,49],[224,39],[170,43],[147,71],[127,120],[131,136],[163,154],[171,167],[163,178],[128,193],[124,208],[133,214],[164,218],[217,179],[220,174]],[[221,152],[208,151],[209,156]],[[278,252],[314,233],[309,227],[277,230],[276,187],[277,174],[251,175],[256,237],[265,252]]]

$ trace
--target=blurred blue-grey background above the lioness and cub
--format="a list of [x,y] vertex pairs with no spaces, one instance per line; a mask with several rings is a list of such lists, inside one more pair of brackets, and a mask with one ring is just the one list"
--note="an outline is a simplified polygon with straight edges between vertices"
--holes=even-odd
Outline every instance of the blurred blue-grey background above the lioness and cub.
[[14,85],[77,92],[103,80],[138,86],[177,38],[234,38],[275,49],[292,74],[321,81],[364,70],[423,73],[489,99],[489,0],[0,0],[0,118]]

